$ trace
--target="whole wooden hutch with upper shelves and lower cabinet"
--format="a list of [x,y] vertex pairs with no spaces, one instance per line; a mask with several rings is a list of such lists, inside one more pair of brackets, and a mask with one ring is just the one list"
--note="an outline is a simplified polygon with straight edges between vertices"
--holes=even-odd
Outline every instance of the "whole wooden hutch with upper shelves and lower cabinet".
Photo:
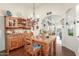
[[23,32],[17,32],[31,29],[31,20],[20,17],[5,16],[5,34],[6,34],[6,50],[9,51],[22,47],[24,35]]

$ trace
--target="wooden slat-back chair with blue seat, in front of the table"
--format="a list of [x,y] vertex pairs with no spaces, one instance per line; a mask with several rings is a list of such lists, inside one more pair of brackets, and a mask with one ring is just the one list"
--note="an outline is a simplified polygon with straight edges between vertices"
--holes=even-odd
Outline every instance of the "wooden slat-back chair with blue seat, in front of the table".
[[26,36],[24,40],[24,47],[25,47],[26,55],[38,56],[38,53],[40,54],[41,47],[38,46],[36,43],[33,43],[30,34],[28,34],[28,36]]

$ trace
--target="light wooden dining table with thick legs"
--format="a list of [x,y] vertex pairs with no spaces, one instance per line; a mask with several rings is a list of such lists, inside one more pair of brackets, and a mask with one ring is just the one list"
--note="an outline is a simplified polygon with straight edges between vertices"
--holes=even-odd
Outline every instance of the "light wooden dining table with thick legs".
[[56,37],[50,35],[48,38],[38,37],[32,38],[33,43],[37,43],[41,46],[41,53],[44,56],[56,55]]

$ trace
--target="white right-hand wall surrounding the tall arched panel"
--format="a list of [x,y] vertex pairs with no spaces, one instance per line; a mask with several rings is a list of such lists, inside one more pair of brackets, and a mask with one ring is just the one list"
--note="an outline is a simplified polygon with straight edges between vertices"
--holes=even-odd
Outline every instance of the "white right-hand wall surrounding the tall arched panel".
[[[74,6],[65,15],[66,16],[65,16],[65,24],[64,24],[64,28],[63,28],[62,44],[63,44],[63,46],[67,47],[68,49],[76,52],[77,48],[78,48],[78,42],[76,40],[76,24],[74,25],[74,29],[73,29],[74,36],[69,36],[68,35],[68,28],[67,28],[67,25],[66,25],[67,20],[71,19],[72,22],[76,21],[76,6]],[[70,19],[68,19],[69,16],[71,17]],[[71,21],[69,22],[69,24],[72,23]]]

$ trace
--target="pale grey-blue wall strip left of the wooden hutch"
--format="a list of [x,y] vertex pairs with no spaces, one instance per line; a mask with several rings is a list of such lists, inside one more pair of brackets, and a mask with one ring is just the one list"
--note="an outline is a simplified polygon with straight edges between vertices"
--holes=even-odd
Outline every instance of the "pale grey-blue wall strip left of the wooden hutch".
[[4,18],[0,16],[0,51],[5,50]]

